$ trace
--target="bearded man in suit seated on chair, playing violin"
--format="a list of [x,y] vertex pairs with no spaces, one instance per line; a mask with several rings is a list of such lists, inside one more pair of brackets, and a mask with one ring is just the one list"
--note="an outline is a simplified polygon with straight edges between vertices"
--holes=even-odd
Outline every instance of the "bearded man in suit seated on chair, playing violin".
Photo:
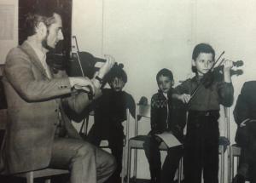
[[[113,173],[112,155],[79,136],[63,111],[68,105],[83,112],[101,95],[101,83],[87,77],[58,78],[46,64],[46,53],[64,37],[61,15],[56,11],[28,14],[26,41],[11,49],[6,59],[3,85],[8,101],[9,122],[1,148],[0,171],[17,174],[47,167],[69,169],[71,183],[104,182]],[[107,60],[97,77],[113,66]],[[90,88],[90,89],[89,89]]]

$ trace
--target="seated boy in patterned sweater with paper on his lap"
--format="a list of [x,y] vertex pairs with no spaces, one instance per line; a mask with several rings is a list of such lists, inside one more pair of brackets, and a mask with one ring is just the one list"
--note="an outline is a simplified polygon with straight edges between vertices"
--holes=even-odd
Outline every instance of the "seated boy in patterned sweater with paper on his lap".
[[168,148],[167,156],[161,169],[160,137],[155,134],[171,132],[180,142],[183,141],[183,128],[186,123],[185,110],[181,101],[172,100],[172,85],[174,83],[172,71],[164,68],[156,75],[159,87],[158,93],[151,98],[151,131],[149,139],[144,143],[144,150],[148,158],[151,183],[172,182],[183,156],[183,146]]

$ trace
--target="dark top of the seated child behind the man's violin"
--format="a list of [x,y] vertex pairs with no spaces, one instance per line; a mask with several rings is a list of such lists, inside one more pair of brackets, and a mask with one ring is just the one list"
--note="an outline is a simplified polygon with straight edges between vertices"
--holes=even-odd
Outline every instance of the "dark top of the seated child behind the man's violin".
[[102,96],[96,102],[95,128],[102,137],[123,130],[122,122],[126,120],[126,109],[135,117],[135,101],[125,91],[102,89]]

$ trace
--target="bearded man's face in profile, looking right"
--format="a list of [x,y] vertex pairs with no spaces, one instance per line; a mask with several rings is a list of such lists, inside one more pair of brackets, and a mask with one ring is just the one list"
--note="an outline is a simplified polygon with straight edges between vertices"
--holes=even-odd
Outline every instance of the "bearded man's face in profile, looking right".
[[56,44],[63,39],[61,16],[54,14],[54,22],[48,27],[42,44],[45,49],[55,49]]

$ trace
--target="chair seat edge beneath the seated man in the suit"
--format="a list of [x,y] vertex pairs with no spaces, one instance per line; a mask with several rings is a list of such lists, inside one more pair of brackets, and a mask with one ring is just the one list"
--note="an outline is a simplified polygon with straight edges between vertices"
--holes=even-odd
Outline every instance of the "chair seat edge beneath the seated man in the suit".
[[[39,170],[32,171],[32,173],[33,173],[33,178],[39,178],[39,177],[49,177],[49,176],[54,176],[59,174],[69,174],[69,171],[66,169],[39,169]],[[28,172],[15,174],[15,176],[26,178],[27,174]]]

